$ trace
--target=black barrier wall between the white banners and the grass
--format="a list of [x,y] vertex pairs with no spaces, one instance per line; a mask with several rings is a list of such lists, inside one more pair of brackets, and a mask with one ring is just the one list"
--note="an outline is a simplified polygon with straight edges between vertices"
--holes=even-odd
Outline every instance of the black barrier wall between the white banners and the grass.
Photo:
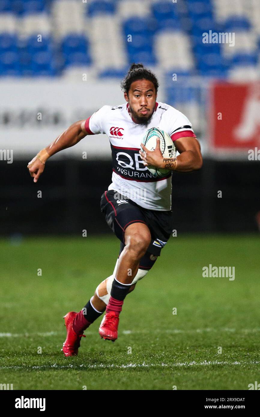
[[[111,233],[100,211],[111,162],[50,160],[36,184],[26,165],[0,161],[2,235]],[[177,233],[257,231],[259,162],[204,160],[198,172],[173,173],[172,210]]]

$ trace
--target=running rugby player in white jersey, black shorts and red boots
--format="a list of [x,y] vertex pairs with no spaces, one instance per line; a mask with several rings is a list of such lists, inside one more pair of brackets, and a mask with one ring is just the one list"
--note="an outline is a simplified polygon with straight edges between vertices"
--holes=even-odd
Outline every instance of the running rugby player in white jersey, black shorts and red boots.
[[[87,135],[106,133],[113,159],[112,183],[101,197],[101,211],[120,240],[120,252],[111,276],[96,288],[95,294],[78,313],[65,316],[67,337],[65,356],[78,354],[83,332],[104,311],[99,327],[103,339],[115,341],[119,314],[127,294],[152,268],[172,233],[172,171],[192,172],[202,166],[200,146],[186,116],[165,103],[158,103],[158,79],[142,64],[132,64],[121,82],[125,104],[103,106],[86,120],[73,123],[28,164],[34,182],[43,173],[50,156],[76,145]],[[164,159],[159,139],[154,151],[141,144],[147,129],[167,132],[179,152]],[[168,168],[163,178],[147,168]]]

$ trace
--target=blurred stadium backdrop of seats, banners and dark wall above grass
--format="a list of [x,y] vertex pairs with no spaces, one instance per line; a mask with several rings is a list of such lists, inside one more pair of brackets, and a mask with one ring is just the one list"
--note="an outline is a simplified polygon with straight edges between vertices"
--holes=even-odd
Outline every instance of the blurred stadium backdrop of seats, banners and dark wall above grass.
[[37,184],[26,166],[74,121],[123,104],[133,62],[202,147],[201,171],[173,173],[174,229],[259,232],[259,58],[259,0],[0,0],[1,234],[111,233],[105,135],[53,156]]

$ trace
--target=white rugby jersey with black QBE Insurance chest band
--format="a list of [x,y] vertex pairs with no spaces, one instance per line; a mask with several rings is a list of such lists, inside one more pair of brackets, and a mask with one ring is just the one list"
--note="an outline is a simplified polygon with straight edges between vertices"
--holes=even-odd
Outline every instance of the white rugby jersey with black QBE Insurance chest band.
[[109,137],[113,173],[109,190],[116,190],[139,206],[150,210],[171,210],[172,173],[155,177],[143,165],[139,150],[145,132],[150,128],[167,132],[172,141],[183,137],[196,137],[192,124],[184,114],[165,103],[156,103],[148,126],[134,123],[128,103],[121,106],[103,106],[85,123],[88,135],[106,133]]

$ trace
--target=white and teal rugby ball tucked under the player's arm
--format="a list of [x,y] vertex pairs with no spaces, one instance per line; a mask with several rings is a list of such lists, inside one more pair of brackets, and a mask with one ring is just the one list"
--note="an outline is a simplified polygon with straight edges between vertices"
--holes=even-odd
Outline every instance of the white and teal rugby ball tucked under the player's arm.
[[[156,139],[160,139],[160,149],[162,152],[162,156],[164,158],[175,158],[176,156],[176,149],[172,139],[169,135],[159,128],[150,128],[146,131],[142,143],[144,146],[149,149],[149,151],[154,151],[156,148]],[[169,169],[162,169],[162,168],[155,168],[154,166],[147,166],[149,171],[157,177],[164,177],[167,175],[171,170]]]

